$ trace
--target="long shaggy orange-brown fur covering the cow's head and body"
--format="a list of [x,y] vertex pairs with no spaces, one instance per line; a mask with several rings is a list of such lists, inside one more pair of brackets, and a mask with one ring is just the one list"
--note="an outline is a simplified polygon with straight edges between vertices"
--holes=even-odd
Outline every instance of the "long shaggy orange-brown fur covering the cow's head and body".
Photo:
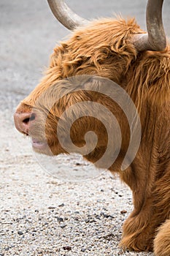
[[[53,154],[65,151],[56,138],[58,118],[76,102],[93,101],[109,108],[120,124],[123,136],[120,154],[109,167],[112,173],[131,187],[134,211],[123,225],[124,248],[136,251],[152,250],[155,255],[170,255],[170,49],[164,52],[138,53],[131,45],[133,34],[144,33],[133,19],[96,20],[74,31],[72,37],[55,48],[50,67],[39,86],[20,103],[17,113],[29,113],[36,107],[36,122],[32,122],[32,137],[45,140],[41,124],[49,101],[63,91],[67,93],[56,102],[47,117],[46,139]],[[142,140],[131,166],[120,170],[128,148],[130,132],[123,110],[103,94],[90,91],[74,92],[75,84],[63,81],[74,75],[94,75],[109,78],[125,89],[133,99],[142,123]],[[58,82],[58,83],[57,83]],[[87,81],[88,83],[89,81]],[[102,86],[96,77],[91,83]],[[39,96],[51,86],[43,102]],[[37,132],[38,130],[38,132]],[[107,148],[107,132],[96,118],[85,116],[72,126],[75,145],[85,144],[84,135],[93,130],[98,135],[96,148],[85,156],[96,162]],[[35,132],[36,131],[36,132]],[[47,151],[40,151],[47,154]]]

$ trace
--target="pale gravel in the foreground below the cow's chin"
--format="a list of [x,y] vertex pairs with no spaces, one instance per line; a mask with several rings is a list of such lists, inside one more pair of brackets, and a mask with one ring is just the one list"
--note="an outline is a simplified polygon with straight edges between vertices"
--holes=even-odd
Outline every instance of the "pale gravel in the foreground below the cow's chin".
[[[0,255],[152,255],[123,251],[122,225],[131,191],[109,172],[89,181],[54,178],[36,162],[31,144],[12,124],[1,125]],[[8,138],[4,140],[4,138]],[[23,150],[24,148],[24,150]],[[58,156],[57,167],[95,170],[79,156]],[[67,163],[67,167],[66,167]]]

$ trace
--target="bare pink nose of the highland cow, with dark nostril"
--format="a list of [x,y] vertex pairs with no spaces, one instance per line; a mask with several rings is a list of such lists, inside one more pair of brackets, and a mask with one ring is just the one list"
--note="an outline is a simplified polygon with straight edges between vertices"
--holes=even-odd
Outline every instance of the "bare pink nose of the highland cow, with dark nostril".
[[23,132],[28,135],[29,126],[36,118],[34,113],[18,113],[14,114],[15,127],[19,132]]

